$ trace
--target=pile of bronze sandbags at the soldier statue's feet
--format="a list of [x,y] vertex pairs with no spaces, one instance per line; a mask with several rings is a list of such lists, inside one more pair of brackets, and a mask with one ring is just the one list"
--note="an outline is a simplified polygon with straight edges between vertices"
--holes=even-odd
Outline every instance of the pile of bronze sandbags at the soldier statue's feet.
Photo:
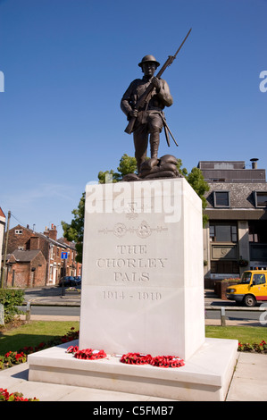
[[141,164],[140,172],[125,175],[122,181],[146,181],[157,178],[182,178],[177,169],[178,160],[172,155],[147,159]]

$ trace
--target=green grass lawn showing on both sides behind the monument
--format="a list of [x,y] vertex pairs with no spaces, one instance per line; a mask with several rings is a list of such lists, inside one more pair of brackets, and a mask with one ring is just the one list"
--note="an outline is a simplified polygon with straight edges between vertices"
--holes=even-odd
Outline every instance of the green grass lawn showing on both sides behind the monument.
[[[0,356],[8,351],[16,351],[23,347],[36,347],[41,342],[62,337],[71,331],[79,330],[79,322],[71,321],[31,321],[11,330],[0,330]],[[242,343],[267,342],[267,327],[241,327],[241,326],[211,326],[205,327],[206,337],[218,339],[233,339]]]

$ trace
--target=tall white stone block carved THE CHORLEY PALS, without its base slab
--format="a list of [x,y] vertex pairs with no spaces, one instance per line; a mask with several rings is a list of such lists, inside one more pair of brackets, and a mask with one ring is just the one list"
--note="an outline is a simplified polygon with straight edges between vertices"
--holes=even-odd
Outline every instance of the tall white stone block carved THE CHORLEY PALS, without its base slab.
[[196,192],[183,178],[88,185],[79,349],[188,360],[203,344]]

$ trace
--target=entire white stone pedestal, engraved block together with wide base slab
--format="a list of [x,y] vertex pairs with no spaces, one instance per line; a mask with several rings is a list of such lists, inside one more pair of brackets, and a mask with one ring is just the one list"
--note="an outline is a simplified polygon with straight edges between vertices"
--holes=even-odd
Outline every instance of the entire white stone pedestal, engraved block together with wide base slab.
[[[201,200],[184,179],[88,186],[79,349],[29,355],[29,381],[186,401],[224,400],[237,340],[204,338]],[[73,342],[77,345],[77,342]],[[129,352],[185,365],[125,365]]]

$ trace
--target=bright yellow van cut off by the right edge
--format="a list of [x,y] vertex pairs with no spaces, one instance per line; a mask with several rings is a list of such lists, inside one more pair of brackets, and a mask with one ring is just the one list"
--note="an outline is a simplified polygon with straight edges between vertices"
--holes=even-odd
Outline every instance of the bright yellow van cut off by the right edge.
[[242,273],[238,284],[229,286],[226,297],[237,303],[254,307],[256,302],[267,300],[267,270],[248,270]]

